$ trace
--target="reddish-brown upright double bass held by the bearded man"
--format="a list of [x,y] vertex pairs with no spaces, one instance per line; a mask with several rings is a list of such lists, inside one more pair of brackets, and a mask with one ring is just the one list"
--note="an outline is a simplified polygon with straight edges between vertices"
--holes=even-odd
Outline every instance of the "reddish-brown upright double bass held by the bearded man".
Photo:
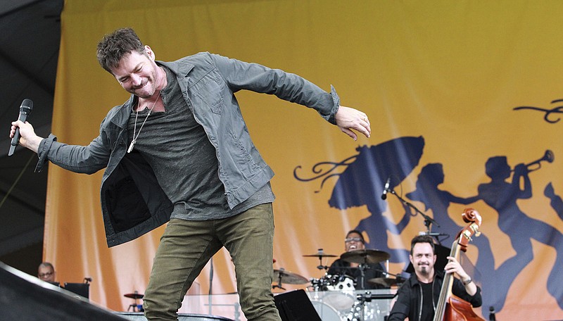
[[[458,258],[460,251],[467,251],[467,244],[475,235],[479,237],[479,227],[481,227],[481,215],[473,208],[466,208],[462,213],[464,222],[469,223],[455,237],[452,244],[450,256]],[[476,315],[471,303],[452,294],[453,273],[446,273],[440,291],[440,298],[436,304],[434,321],[484,321],[482,317]]]

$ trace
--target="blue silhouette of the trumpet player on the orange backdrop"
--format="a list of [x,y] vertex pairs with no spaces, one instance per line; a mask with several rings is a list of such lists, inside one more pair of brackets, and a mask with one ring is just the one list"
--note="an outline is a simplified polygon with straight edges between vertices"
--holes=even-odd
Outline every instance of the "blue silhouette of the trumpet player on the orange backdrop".
[[[563,308],[563,278],[558,277],[559,268],[563,266],[563,236],[551,225],[529,218],[517,205],[517,200],[532,196],[528,168],[524,164],[516,165],[512,182],[507,182],[512,172],[507,158],[494,156],[487,160],[485,170],[491,182],[479,185],[479,198],[498,212],[498,227],[510,237],[512,248],[516,251],[516,255],[505,260],[495,271],[495,281],[488,288],[488,291],[493,292],[491,306],[497,311],[504,306],[510,285],[533,260],[531,239],[535,239],[557,251],[547,287],[559,307]],[[523,188],[520,188],[521,182]]]

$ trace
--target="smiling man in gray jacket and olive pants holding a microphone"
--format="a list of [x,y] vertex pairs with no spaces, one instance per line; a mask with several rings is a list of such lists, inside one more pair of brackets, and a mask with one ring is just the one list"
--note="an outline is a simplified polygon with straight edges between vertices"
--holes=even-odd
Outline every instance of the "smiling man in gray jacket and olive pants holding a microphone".
[[[248,320],[280,320],[272,295],[274,173],[255,148],[234,94],[246,89],[315,109],[353,139],[369,137],[367,115],[282,70],[211,53],[156,61],[130,28],[107,34],[97,57],[131,94],[112,108],[87,146],[53,134],[38,137],[25,122],[20,144],[73,172],[106,168],[101,208],[108,246],[170,220],[158,246],[144,310],[148,320],[177,320],[186,291],[224,246],[235,265]],[[103,93],[99,93],[103,94]],[[88,103],[94,103],[89,101]]]

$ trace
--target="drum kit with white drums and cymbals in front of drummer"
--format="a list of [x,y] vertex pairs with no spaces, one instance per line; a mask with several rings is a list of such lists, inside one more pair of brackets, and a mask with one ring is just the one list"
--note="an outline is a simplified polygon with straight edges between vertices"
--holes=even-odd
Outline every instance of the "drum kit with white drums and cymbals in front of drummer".
[[[338,256],[326,254],[319,248],[317,253],[304,255],[303,257],[318,258],[320,265],[317,269],[324,270],[324,275],[320,278],[307,279],[301,275],[284,270],[274,270],[274,285],[272,288],[284,289],[285,284],[310,284],[306,287],[311,303],[323,321],[367,321],[384,320],[384,315],[377,306],[377,302],[372,298],[393,298],[393,295],[377,296],[372,295],[372,291],[358,291],[356,280],[344,272],[336,275],[328,274],[329,267],[323,265],[324,258],[337,258]],[[390,258],[384,251],[361,249],[343,253],[341,260],[348,263],[357,263],[362,277],[368,264],[381,263]],[[346,267],[349,269],[349,267]],[[367,279],[367,283],[378,288],[390,289],[398,287],[404,281],[403,278],[391,273],[386,275],[396,278],[377,277]],[[389,293],[391,293],[389,291]]]

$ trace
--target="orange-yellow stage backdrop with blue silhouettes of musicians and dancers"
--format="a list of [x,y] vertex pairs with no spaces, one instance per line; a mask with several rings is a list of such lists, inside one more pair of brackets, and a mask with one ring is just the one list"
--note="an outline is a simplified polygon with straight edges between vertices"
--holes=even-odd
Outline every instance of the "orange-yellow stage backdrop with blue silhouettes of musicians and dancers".
[[[560,1],[67,0],[53,133],[88,144],[106,112],[127,99],[95,56],[99,39],[118,27],[134,27],[159,60],[210,51],[326,90],[333,84],[344,106],[368,113],[371,139],[353,141],[274,96],[237,94],[277,173],[274,268],[320,277],[319,262],[303,255],[342,253],[346,231],[358,227],[370,248],[392,254],[390,272],[404,270],[408,242],[426,227],[393,195],[381,201],[393,177],[397,194],[440,223],[432,232],[455,235],[463,208],[479,210],[483,235],[468,258],[483,283],[483,311],[495,306],[500,320],[562,319],[561,16]],[[548,149],[552,163],[533,163]],[[340,175],[307,181],[322,162],[334,163],[319,165],[322,173]],[[512,182],[519,163],[533,163],[529,180]],[[144,293],[163,227],[107,248],[101,175],[50,165],[44,258],[59,281],[90,276],[91,301],[127,310],[123,294]],[[235,291],[228,253],[213,264],[213,293]],[[209,265],[197,279],[204,294],[208,275]]]

